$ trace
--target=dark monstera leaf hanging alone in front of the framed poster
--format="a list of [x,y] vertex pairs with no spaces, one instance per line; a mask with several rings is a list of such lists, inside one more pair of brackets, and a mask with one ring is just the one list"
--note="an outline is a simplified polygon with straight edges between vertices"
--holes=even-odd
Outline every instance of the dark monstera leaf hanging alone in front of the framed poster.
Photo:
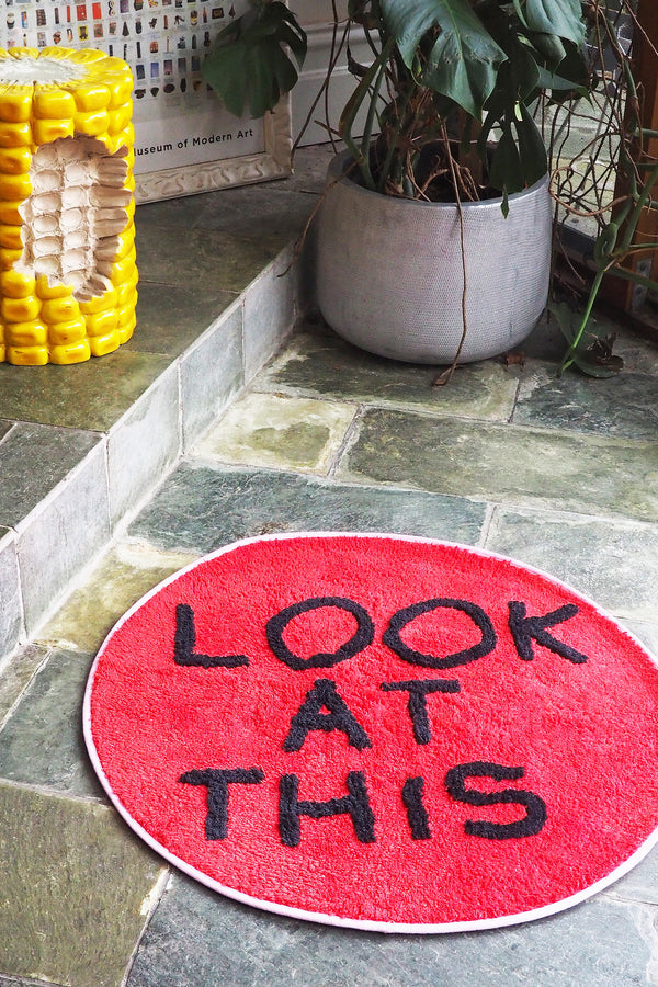
[[306,34],[294,15],[281,0],[261,0],[217,35],[202,75],[230,113],[242,116],[248,106],[258,118],[290,92],[305,57]]

